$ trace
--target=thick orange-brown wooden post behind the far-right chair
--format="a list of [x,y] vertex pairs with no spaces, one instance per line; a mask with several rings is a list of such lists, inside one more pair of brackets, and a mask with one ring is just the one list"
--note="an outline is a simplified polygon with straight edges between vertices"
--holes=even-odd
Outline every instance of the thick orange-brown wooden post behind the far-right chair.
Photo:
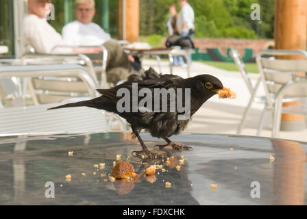
[[[306,0],[276,0],[275,1],[275,49],[306,50],[307,34],[307,1]],[[302,59],[299,55],[279,57],[285,59]],[[304,73],[302,73],[304,74]],[[284,105],[298,105],[284,103]],[[282,114],[282,130],[294,131],[304,129],[304,117]]]

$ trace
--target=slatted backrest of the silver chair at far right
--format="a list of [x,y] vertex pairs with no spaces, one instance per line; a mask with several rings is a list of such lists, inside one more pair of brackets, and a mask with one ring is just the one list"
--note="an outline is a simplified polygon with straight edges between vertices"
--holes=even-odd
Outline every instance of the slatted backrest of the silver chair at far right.
[[[285,55],[287,59],[280,59]],[[291,60],[294,55],[302,56],[303,60]],[[302,50],[262,50],[259,51],[256,60],[270,106],[273,104],[272,96],[277,94],[285,83],[293,80],[293,74],[307,72],[307,53]],[[302,96],[302,90],[289,89],[285,96]]]

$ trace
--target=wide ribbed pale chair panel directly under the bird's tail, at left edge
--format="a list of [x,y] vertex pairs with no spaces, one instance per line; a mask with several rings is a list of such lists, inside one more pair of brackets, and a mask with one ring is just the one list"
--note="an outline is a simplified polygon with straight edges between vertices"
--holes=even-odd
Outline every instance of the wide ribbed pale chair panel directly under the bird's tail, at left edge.
[[106,112],[88,107],[47,110],[53,104],[0,109],[0,135],[106,132]]

